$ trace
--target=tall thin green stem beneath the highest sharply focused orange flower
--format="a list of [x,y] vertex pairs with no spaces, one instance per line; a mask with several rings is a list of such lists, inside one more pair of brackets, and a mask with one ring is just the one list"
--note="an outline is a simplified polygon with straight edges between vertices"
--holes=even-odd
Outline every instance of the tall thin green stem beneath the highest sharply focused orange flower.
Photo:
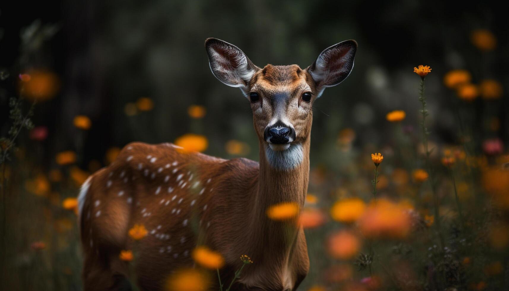
[[421,77],[420,80],[420,88],[419,88],[419,101],[422,103],[422,109],[420,110],[420,113],[422,114],[422,122],[421,122],[421,128],[422,128],[422,145],[424,146],[424,150],[426,152],[426,168],[428,170],[429,174],[429,181],[431,184],[431,189],[433,191],[433,202],[434,202],[434,212],[435,212],[435,225],[437,227],[438,236],[440,238],[440,245],[443,249],[445,246],[444,237],[442,235],[442,230],[440,227],[440,214],[439,214],[439,202],[438,202],[438,194],[437,189],[435,185],[435,181],[433,179],[433,173],[431,171],[431,165],[430,165],[430,151],[428,150],[428,135],[430,134],[428,131],[428,128],[426,127],[426,116],[428,116],[428,110],[426,109],[426,97],[424,96],[424,77]]

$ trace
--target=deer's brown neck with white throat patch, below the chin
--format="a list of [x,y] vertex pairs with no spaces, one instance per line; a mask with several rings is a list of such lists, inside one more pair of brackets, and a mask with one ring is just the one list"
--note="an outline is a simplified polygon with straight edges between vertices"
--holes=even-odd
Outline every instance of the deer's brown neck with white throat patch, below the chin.
[[302,208],[309,180],[309,138],[283,152],[273,152],[260,142],[260,177],[258,190],[252,195],[250,228],[252,251],[274,252],[285,256],[292,250],[298,232],[297,217],[274,221],[267,217],[267,208],[282,202],[293,202]]

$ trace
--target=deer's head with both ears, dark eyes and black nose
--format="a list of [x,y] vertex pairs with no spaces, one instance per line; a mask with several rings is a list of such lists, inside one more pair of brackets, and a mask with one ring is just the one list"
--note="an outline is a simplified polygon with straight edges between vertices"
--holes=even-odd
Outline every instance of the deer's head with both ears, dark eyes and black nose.
[[[260,68],[233,44],[205,41],[212,73],[222,83],[239,87],[251,102],[254,128],[267,157],[299,155],[309,138],[313,103],[326,87],[340,84],[353,68],[357,43],[346,40],[326,48],[309,67],[298,65]],[[297,151],[297,152],[295,152]],[[292,165],[298,161],[289,161]]]

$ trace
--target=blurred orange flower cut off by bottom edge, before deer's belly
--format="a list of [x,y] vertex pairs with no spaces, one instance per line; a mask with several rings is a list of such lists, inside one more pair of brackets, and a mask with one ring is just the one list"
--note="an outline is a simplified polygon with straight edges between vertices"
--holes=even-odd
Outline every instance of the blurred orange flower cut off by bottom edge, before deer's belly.
[[168,277],[167,291],[206,291],[210,286],[207,273],[197,269],[181,269]]

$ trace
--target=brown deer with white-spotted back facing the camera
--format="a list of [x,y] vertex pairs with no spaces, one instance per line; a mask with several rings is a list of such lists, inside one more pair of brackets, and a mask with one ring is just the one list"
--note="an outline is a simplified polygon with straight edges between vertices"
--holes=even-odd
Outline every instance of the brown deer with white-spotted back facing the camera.
[[[198,245],[223,256],[223,282],[233,279],[241,255],[252,258],[231,290],[296,290],[306,277],[309,258],[298,217],[272,220],[266,211],[284,202],[304,206],[313,104],[350,74],[357,42],[326,48],[305,69],[258,67],[237,46],[216,38],[208,38],[205,48],[213,75],[240,88],[250,103],[259,162],[224,160],[172,143],[127,144],[78,196],[84,290],[130,289],[119,252],[133,247],[127,233],[134,224],[148,230],[136,242],[141,290],[161,290],[169,274],[195,267],[191,252]],[[218,283],[210,287],[218,289]]]

